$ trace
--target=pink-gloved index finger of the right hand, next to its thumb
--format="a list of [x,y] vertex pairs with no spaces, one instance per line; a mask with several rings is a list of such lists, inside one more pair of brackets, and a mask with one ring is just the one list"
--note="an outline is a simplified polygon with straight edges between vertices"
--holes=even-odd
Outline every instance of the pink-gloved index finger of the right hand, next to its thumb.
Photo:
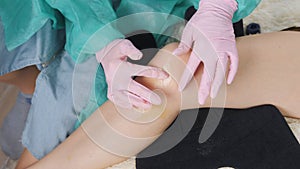
[[191,81],[200,63],[201,60],[192,51],[192,54],[189,58],[188,63],[186,64],[186,67],[179,82],[179,91],[182,91],[186,87],[186,85]]

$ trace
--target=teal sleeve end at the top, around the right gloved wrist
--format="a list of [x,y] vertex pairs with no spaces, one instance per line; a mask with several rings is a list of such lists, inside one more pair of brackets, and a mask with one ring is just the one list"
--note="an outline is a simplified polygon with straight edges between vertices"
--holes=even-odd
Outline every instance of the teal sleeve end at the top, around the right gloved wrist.
[[[194,7],[198,9],[199,1],[192,0]],[[236,0],[238,3],[238,9],[234,13],[232,22],[238,22],[239,20],[245,18],[257,7],[261,0]]]

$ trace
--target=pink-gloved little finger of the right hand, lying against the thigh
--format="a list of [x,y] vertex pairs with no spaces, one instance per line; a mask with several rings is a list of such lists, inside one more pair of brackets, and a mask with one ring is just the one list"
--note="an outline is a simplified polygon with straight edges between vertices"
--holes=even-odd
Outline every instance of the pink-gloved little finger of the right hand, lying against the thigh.
[[238,70],[239,57],[235,49],[234,53],[229,53],[230,68],[228,72],[227,84],[231,84]]

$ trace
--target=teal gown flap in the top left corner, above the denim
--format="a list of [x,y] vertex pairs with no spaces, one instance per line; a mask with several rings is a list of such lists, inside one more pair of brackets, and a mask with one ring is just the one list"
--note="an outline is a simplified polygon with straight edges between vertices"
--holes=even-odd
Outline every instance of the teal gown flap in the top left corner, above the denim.
[[8,50],[30,39],[49,19],[53,28],[64,27],[63,16],[44,0],[1,0],[0,16]]

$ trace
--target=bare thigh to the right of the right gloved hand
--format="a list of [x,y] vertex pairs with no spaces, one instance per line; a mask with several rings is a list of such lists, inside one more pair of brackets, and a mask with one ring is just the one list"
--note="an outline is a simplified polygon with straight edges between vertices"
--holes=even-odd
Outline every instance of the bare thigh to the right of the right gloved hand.
[[239,70],[235,82],[227,87],[227,93],[247,100],[244,102],[249,105],[274,104],[284,115],[300,118],[297,114],[300,112],[299,43],[299,32],[238,39]]

